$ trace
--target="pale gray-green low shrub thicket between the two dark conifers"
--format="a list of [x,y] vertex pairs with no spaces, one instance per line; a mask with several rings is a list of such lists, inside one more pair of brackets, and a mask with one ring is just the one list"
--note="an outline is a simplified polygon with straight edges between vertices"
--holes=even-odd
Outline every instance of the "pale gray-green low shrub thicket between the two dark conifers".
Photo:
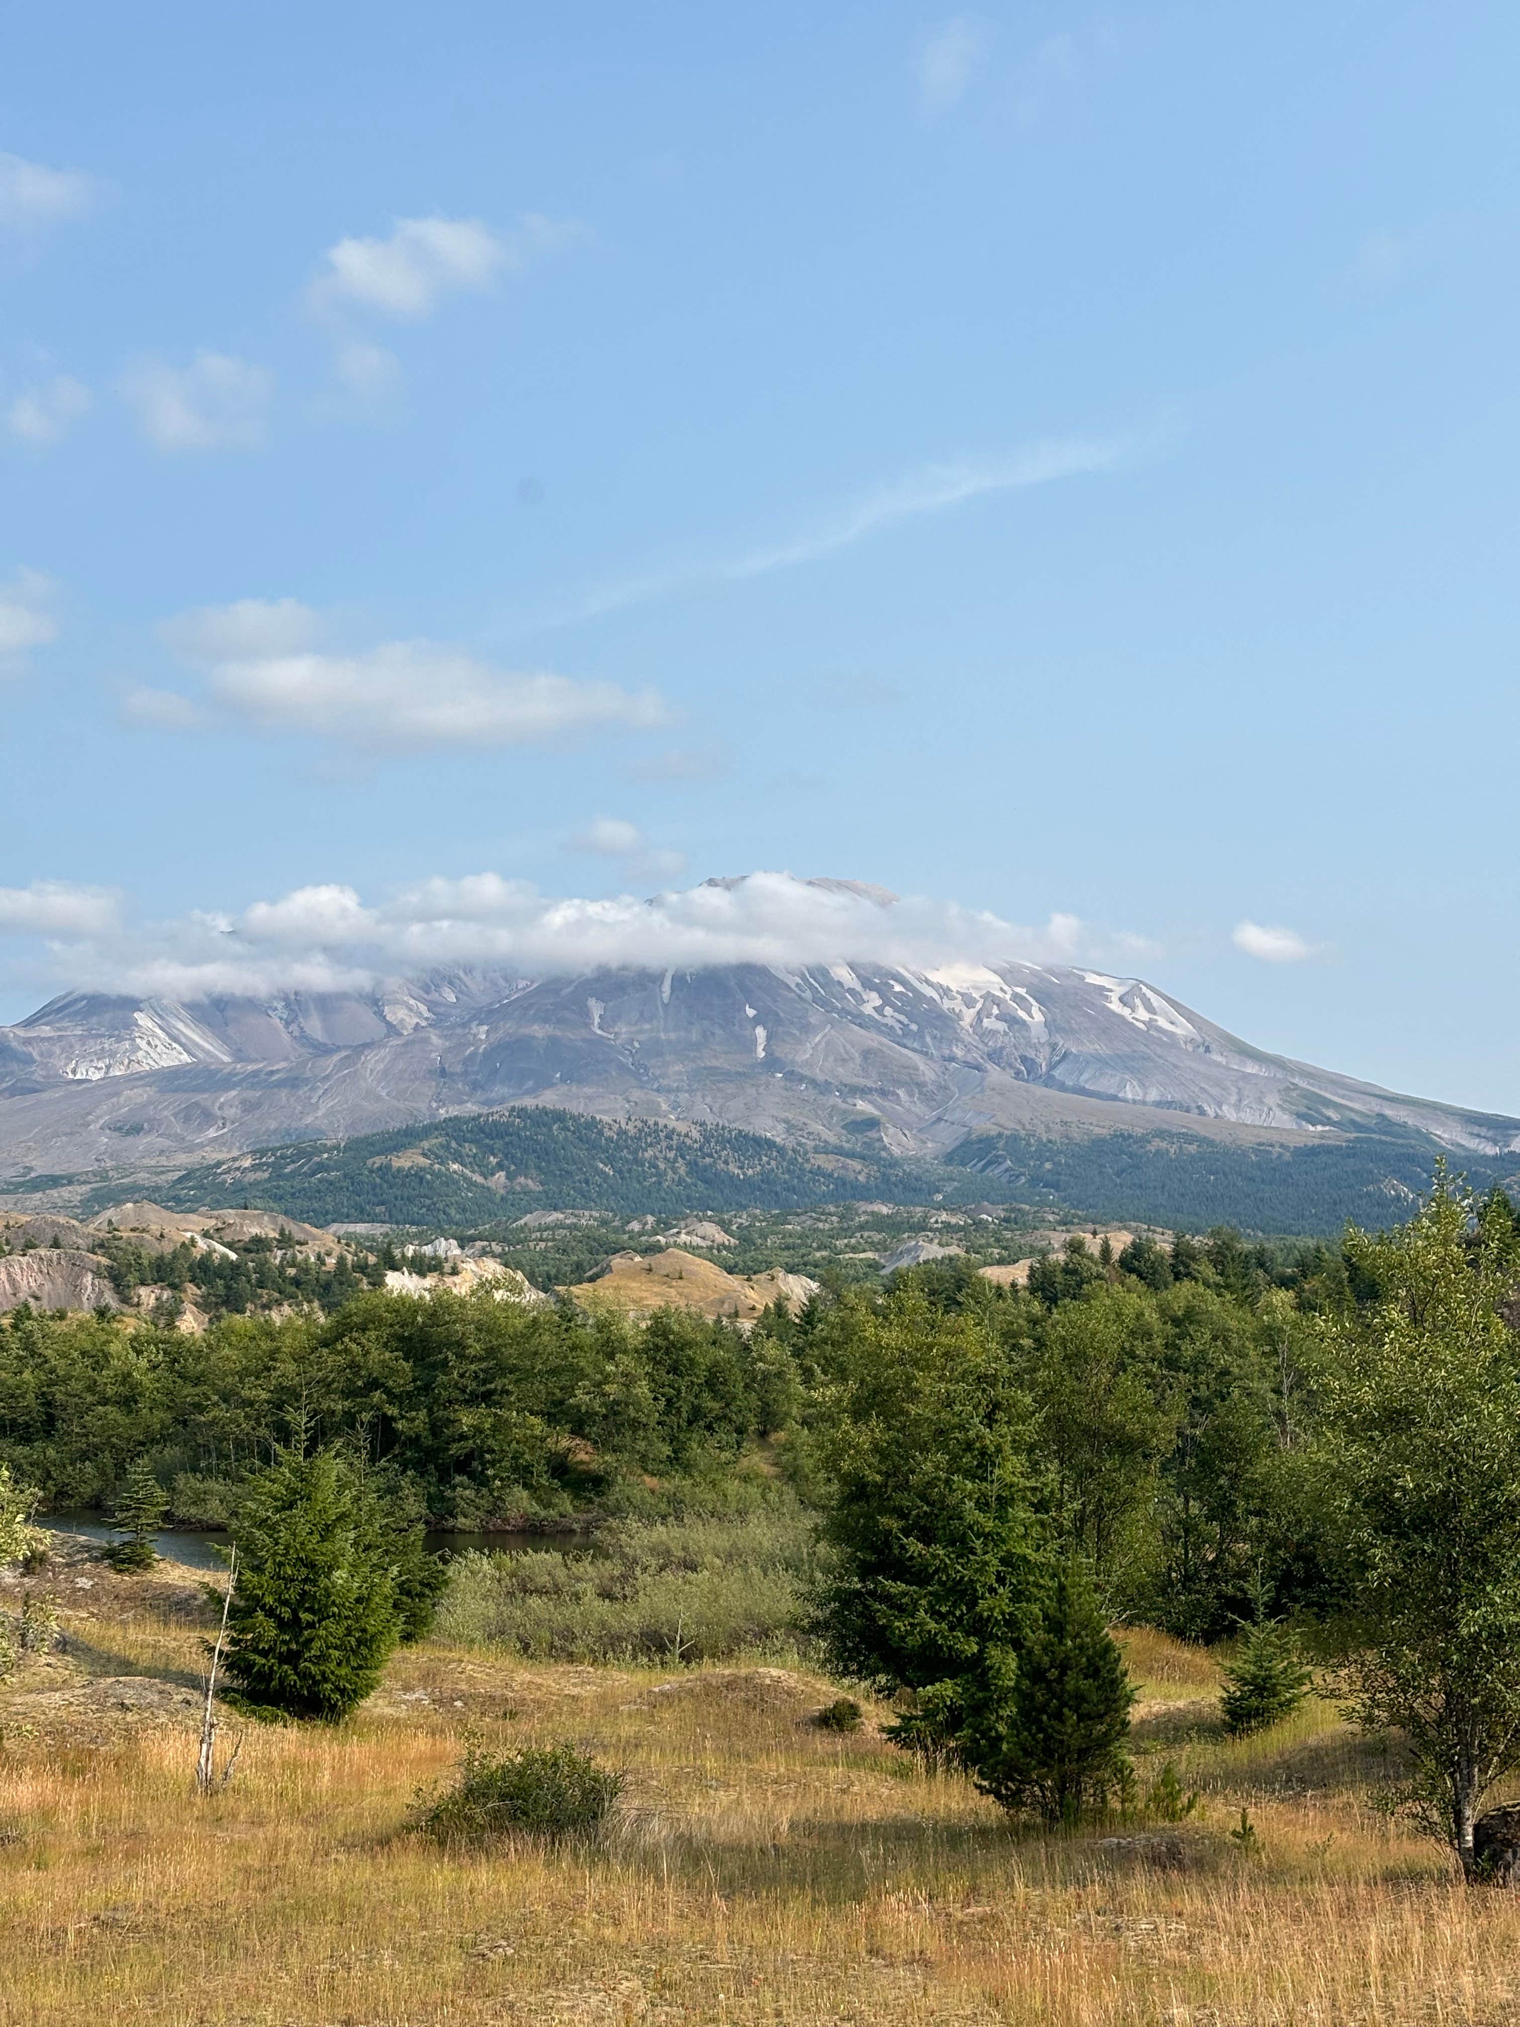
[[790,1500],[732,1518],[616,1520],[596,1551],[470,1551],[450,1565],[438,1638],[529,1660],[794,1656],[813,1526]]

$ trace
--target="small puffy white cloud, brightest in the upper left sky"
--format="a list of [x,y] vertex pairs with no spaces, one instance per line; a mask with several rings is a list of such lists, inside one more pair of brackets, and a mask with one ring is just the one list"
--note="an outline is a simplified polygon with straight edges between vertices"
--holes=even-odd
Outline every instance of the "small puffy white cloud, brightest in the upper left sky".
[[328,247],[310,304],[318,312],[357,308],[415,322],[432,316],[444,296],[478,294],[531,255],[582,237],[582,225],[537,213],[513,233],[480,219],[397,219],[387,239],[338,239]]

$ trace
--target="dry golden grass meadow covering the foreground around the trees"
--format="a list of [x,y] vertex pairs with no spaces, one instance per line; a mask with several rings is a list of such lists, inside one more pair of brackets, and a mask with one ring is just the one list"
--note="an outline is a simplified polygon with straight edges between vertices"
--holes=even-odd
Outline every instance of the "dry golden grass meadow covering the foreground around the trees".
[[[343,1731],[253,1727],[231,1788],[197,1802],[193,1591],[101,1579],[71,1603],[65,1654],[0,1697],[6,2027],[1514,2015],[1520,1895],[1465,1891],[1390,1828],[1384,1766],[1334,1711],[1226,1741],[1208,1656],[1155,1634],[1127,1636],[1141,1786],[1171,1757],[1206,1814],[1046,1841],[871,1727],[813,1729],[833,1691],[805,1674],[442,1648],[397,1656]],[[626,1768],[608,1847],[413,1834],[415,1790],[470,1731]],[[1228,1838],[1240,1806],[1257,1859]]]

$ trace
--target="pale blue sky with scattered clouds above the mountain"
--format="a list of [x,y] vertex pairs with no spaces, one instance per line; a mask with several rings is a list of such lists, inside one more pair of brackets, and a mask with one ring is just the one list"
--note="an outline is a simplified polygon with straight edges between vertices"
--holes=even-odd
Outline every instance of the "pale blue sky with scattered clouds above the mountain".
[[1516,59],[1459,0],[12,18],[0,1018],[290,890],[306,963],[349,888],[790,868],[1520,1113]]

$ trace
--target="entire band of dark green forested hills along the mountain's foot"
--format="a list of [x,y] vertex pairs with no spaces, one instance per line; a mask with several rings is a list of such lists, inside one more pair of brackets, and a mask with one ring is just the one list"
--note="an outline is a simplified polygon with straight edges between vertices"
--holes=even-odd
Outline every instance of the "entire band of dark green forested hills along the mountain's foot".
[[[1415,1129],[1230,1145],[1180,1127],[1147,1133],[981,1133],[942,1163],[886,1151],[803,1151],[717,1125],[612,1121],[543,1105],[460,1113],[349,1141],[298,1141],[152,1180],[172,1208],[280,1210],[432,1228],[478,1226],[529,1210],[612,1216],[805,1210],[880,1198],[946,1206],[973,1198],[1078,1218],[1133,1218],[1167,1230],[1334,1234],[1352,1218],[1402,1222],[1429,1190],[1441,1145]],[[1455,1163],[1477,1188],[1516,1188],[1514,1155]],[[95,1188],[91,1206],[142,1194]]]

